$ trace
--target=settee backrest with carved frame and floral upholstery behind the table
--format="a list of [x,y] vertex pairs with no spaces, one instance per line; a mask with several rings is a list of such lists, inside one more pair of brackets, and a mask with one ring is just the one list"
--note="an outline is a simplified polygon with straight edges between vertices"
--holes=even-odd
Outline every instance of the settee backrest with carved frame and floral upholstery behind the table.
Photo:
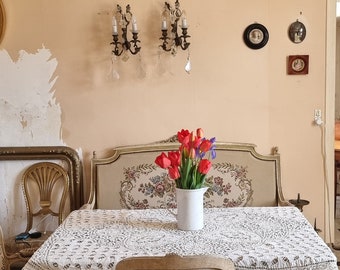
[[[100,209],[166,207],[166,194],[173,193],[174,185],[154,161],[178,147],[164,142],[117,147],[105,158],[94,153],[90,200]],[[216,153],[206,178],[205,207],[290,205],[282,193],[277,148],[261,155],[254,144],[217,142]]]

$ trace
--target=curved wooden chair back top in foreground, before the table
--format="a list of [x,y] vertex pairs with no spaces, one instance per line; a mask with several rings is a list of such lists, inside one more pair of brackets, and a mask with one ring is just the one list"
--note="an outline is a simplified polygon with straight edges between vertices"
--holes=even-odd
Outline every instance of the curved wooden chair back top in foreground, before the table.
[[185,270],[185,269],[219,269],[233,270],[234,264],[227,258],[208,255],[178,256],[169,254],[164,257],[130,257],[121,260],[116,270]]

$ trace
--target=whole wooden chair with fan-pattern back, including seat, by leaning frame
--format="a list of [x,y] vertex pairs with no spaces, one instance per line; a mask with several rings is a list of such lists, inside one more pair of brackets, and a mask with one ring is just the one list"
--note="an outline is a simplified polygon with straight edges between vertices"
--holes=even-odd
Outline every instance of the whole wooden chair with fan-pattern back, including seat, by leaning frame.
[[[52,162],[39,162],[26,169],[22,176],[22,189],[27,211],[26,233],[36,231],[39,225],[44,225],[50,216],[58,219],[58,225],[64,220],[65,202],[69,197],[69,177],[63,167]],[[34,218],[40,218],[33,227]],[[46,222],[45,224],[48,225]],[[46,225],[46,227],[47,227]],[[33,229],[32,229],[33,227]],[[20,253],[23,257],[31,257],[33,253],[51,235],[52,231],[44,232],[38,238],[31,237],[16,240],[11,237],[6,240],[6,247],[12,253]]]

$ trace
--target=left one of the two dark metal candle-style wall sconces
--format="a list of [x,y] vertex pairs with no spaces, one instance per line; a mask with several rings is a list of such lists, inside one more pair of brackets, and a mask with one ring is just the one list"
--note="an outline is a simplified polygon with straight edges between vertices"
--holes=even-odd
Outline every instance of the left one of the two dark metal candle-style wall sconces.
[[[132,39],[128,40],[128,26],[131,22]],[[121,41],[119,41],[119,28],[121,27]],[[120,56],[124,51],[130,51],[132,54],[137,54],[141,47],[138,46],[140,40],[138,39],[138,28],[136,18],[131,13],[130,5],[126,6],[126,13],[122,12],[120,5],[117,5],[116,16],[112,18],[112,37],[113,45],[112,53]]]

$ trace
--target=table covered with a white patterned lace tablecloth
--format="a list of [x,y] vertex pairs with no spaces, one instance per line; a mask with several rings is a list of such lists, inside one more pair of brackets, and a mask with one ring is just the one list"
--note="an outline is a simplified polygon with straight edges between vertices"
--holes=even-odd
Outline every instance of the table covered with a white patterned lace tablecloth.
[[130,256],[211,254],[236,269],[334,269],[337,259],[296,207],[204,209],[205,227],[181,231],[166,209],[76,210],[25,270],[114,269]]

